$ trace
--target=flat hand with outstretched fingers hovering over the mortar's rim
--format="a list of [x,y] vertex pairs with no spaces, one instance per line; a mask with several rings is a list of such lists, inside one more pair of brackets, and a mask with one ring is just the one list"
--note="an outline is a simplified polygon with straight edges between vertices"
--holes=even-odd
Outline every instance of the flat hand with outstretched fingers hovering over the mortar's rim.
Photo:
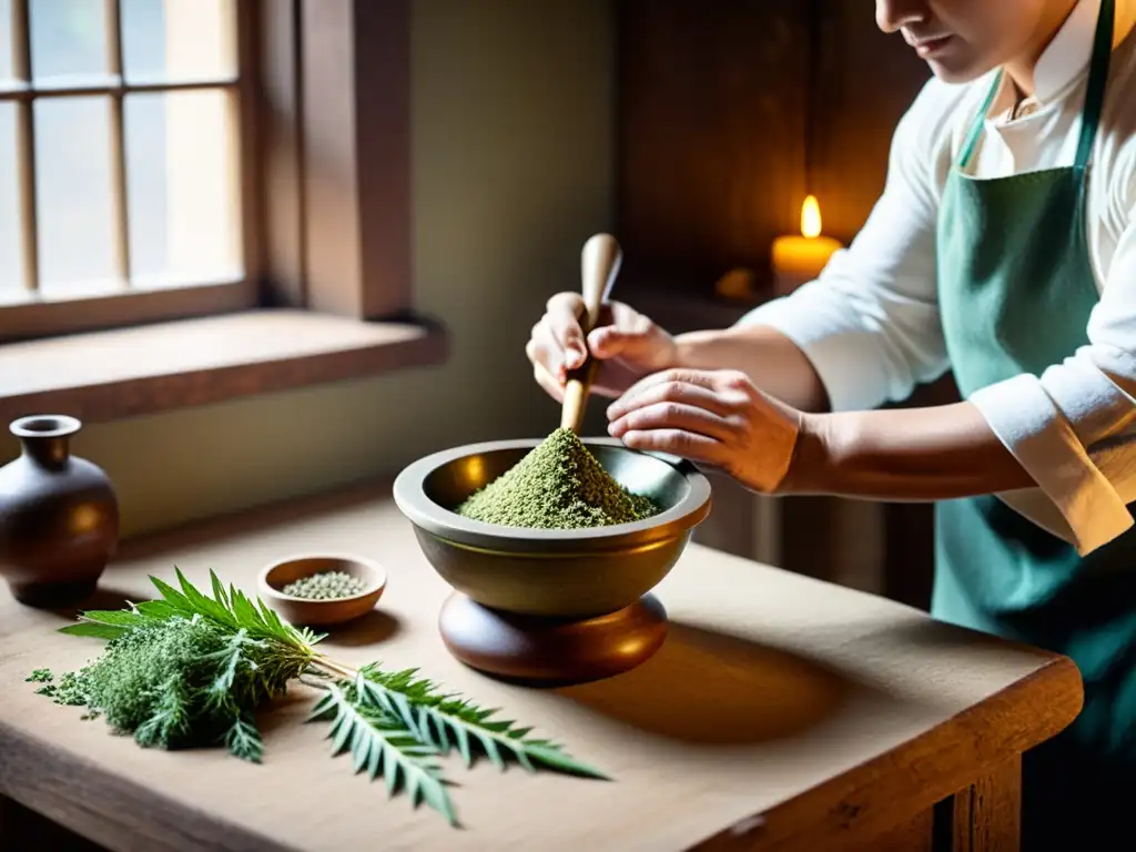
[[804,416],[744,373],[669,369],[630,387],[608,419],[633,450],[670,453],[771,494],[786,486]]

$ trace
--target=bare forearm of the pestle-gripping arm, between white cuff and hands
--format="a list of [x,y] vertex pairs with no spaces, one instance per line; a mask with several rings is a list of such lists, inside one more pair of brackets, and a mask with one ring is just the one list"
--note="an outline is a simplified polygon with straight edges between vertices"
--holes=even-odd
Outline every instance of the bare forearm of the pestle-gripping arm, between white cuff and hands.
[[675,337],[676,367],[745,373],[760,390],[801,411],[829,409],[828,393],[809,359],[785,335],[766,326],[691,332]]

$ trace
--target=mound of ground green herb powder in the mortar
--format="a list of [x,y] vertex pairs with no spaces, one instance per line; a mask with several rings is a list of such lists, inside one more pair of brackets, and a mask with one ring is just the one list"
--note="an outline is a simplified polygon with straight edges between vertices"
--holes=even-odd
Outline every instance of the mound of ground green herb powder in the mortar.
[[487,524],[544,529],[627,524],[659,511],[649,498],[617,483],[568,428],[553,432],[457,508]]

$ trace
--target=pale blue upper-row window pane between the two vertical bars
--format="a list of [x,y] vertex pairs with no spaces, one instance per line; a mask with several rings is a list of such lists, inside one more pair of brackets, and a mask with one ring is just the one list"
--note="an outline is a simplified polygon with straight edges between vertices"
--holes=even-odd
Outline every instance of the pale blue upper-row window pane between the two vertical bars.
[[100,0],[30,0],[36,83],[106,76],[105,7]]

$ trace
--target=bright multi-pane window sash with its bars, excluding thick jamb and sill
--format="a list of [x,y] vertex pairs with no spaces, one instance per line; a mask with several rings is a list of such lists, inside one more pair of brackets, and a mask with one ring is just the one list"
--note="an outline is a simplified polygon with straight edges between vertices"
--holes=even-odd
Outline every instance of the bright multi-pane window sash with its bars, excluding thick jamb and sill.
[[0,0],[0,340],[252,307],[244,0]]

